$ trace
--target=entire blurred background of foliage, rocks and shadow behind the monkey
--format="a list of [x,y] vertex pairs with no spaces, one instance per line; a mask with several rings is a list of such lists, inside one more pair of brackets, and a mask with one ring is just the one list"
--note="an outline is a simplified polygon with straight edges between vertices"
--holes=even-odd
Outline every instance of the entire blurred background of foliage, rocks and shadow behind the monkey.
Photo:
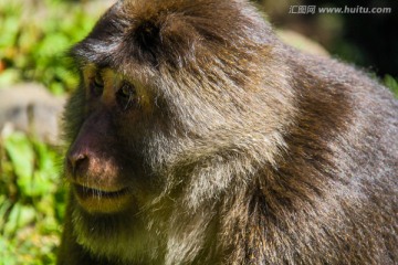
[[[0,0],[0,265],[55,263],[65,209],[60,117],[77,84],[64,54],[113,2]],[[355,64],[398,95],[397,1],[253,2],[286,43]],[[356,10],[320,11],[345,7]]]

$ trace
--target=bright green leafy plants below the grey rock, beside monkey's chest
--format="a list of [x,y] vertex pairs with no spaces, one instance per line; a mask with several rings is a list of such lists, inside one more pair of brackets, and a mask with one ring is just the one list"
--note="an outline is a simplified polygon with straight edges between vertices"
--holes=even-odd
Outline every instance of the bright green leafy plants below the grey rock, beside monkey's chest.
[[0,155],[0,264],[54,264],[65,208],[60,150],[14,132]]

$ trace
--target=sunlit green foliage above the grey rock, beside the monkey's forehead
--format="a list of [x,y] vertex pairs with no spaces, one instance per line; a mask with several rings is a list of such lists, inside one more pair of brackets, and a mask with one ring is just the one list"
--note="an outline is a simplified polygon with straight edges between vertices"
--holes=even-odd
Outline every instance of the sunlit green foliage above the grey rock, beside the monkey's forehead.
[[57,0],[0,0],[0,86],[29,80],[56,94],[73,89],[77,80],[65,53],[96,19]]

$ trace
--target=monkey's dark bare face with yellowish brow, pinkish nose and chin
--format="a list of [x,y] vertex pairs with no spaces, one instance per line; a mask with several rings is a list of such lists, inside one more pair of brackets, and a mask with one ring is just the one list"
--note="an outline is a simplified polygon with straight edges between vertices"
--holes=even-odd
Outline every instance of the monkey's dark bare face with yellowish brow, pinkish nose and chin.
[[151,112],[150,96],[111,68],[85,65],[82,76],[84,121],[66,157],[66,176],[87,212],[123,211],[147,189],[140,189],[145,180],[135,181],[144,169],[132,131],[138,134]]

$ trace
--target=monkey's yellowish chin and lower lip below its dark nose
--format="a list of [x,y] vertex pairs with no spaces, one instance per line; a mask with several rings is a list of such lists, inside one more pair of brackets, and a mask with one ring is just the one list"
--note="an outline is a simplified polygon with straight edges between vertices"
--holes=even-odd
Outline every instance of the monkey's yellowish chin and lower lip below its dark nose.
[[127,188],[105,191],[75,184],[74,193],[78,204],[92,214],[122,212],[132,202],[132,194]]

